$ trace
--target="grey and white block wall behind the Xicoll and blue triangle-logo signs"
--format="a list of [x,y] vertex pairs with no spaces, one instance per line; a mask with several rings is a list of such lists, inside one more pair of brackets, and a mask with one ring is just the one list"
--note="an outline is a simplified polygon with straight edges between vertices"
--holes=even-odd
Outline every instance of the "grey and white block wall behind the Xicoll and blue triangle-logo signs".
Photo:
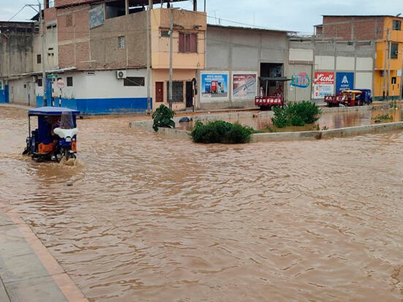
[[[290,38],[289,73],[288,77],[297,75],[299,78],[308,77],[309,88],[296,87],[290,83],[289,100],[301,101],[321,99],[316,95],[317,84],[315,74],[331,74],[333,84],[328,86],[328,93],[338,93],[340,77],[353,74],[349,83],[350,88],[371,89],[373,85],[375,43],[371,41],[355,41],[354,43],[344,41],[326,41],[320,39],[298,39]],[[311,55],[312,54],[312,55]],[[313,57],[313,60],[311,59]],[[303,82],[306,83],[307,81]],[[315,86],[316,85],[316,86]],[[321,88],[319,88],[321,89]],[[311,92],[311,94],[309,94]]]

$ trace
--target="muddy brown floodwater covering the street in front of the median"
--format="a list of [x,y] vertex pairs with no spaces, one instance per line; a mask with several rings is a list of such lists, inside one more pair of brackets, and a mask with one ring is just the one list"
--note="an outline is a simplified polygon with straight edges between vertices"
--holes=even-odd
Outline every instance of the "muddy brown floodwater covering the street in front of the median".
[[0,209],[97,302],[401,301],[403,134],[194,144],[78,121],[75,166],[21,156],[0,107]]

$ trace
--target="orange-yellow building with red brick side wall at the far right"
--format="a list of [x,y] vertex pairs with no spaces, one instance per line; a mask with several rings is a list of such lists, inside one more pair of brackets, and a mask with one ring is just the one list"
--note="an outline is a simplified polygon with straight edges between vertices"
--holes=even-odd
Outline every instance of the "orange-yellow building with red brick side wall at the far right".
[[[397,16],[323,16],[323,23],[315,26],[315,37],[345,41],[348,45],[372,43],[374,99],[401,98],[403,95],[403,32]],[[368,61],[359,61],[368,76]],[[358,74],[360,75],[360,74]],[[357,77],[361,81],[361,76]],[[363,80],[367,82],[367,80]]]

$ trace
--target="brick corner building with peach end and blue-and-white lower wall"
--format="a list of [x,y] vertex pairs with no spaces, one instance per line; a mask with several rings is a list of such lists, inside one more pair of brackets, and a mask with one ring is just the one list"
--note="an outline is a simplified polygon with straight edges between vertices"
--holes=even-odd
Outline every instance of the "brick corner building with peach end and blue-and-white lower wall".
[[193,80],[205,65],[206,13],[195,10],[195,0],[193,11],[173,9],[176,0],[154,2],[159,5],[151,0],[56,0],[49,7],[46,2],[44,51],[41,36],[31,34],[24,52],[30,68],[13,77],[2,73],[9,90],[28,80],[33,90],[18,89],[18,98],[7,99],[67,106],[84,114],[146,112],[164,103],[174,110],[194,106]]

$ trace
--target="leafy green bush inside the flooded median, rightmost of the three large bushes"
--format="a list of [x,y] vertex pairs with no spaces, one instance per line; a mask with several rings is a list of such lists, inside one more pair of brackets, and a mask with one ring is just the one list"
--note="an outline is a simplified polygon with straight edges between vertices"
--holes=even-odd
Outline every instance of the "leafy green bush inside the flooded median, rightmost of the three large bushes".
[[274,107],[273,124],[278,128],[303,126],[319,119],[321,109],[313,102],[290,103],[287,107]]

